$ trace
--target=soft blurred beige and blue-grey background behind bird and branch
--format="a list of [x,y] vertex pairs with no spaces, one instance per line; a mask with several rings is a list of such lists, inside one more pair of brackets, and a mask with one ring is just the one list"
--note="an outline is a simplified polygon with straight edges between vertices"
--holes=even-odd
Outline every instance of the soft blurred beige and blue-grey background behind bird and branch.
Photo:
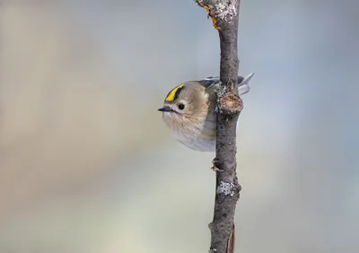
[[[236,252],[358,252],[358,8],[241,1]],[[2,0],[0,252],[207,252],[214,154],[156,109],[218,73],[191,0]]]

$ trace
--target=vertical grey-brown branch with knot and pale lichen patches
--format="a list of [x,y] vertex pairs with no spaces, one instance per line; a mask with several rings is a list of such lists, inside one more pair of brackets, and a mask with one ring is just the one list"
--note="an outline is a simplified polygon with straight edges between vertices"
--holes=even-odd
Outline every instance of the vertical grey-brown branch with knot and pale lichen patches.
[[236,175],[236,126],[242,100],[238,93],[237,52],[240,0],[197,0],[212,18],[221,44],[221,85],[218,92],[215,214],[210,223],[213,253],[234,252],[234,214],[241,185]]

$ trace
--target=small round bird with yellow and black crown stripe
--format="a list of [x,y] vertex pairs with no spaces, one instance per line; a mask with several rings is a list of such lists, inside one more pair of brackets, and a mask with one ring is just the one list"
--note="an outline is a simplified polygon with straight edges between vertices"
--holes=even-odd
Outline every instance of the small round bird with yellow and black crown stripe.
[[[250,92],[253,74],[238,76],[240,95]],[[182,83],[167,94],[163,107],[158,109],[171,134],[190,149],[215,152],[219,83],[219,76]]]

